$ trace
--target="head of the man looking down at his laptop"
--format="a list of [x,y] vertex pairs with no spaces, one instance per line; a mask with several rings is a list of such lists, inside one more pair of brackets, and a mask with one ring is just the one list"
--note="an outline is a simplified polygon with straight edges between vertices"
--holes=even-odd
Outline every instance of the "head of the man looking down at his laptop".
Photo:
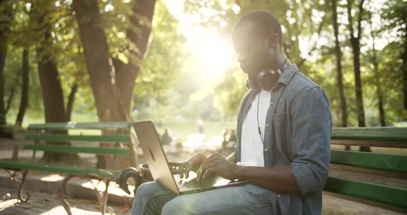
[[262,69],[277,70],[281,66],[281,25],[270,12],[252,10],[244,14],[233,27],[232,40],[241,70],[249,79]]

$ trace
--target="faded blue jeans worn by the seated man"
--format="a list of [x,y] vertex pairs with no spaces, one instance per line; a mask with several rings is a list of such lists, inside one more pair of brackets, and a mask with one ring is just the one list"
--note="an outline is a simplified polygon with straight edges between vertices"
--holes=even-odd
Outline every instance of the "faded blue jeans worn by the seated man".
[[280,208],[274,192],[250,183],[178,196],[153,181],[137,189],[131,214],[275,215]]

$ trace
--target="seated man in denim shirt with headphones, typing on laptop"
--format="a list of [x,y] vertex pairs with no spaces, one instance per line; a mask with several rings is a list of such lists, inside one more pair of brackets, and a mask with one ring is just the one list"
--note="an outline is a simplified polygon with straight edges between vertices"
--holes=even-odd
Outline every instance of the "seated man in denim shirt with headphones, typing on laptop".
[[227,158],[192,156],[181,177],[192,170],[198,181],[218,174],[249,183],[181,196],[144,183],[132,214],[321,214],[332,130],[328,97],[284,58],[281,25],[269,12],[244,14],[232,39],[250,88],[239,107],[237,147]]

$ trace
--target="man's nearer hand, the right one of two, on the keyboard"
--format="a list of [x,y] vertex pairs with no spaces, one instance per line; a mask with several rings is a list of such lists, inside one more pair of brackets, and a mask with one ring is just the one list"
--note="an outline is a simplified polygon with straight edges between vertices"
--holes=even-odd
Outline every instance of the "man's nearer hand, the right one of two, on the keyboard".
[[211,174],[217,174],[229,180],[236,179],[238,166],[232,163],[219,153],[212,154],[201,164],[197,172],[197,181],[203,181]]

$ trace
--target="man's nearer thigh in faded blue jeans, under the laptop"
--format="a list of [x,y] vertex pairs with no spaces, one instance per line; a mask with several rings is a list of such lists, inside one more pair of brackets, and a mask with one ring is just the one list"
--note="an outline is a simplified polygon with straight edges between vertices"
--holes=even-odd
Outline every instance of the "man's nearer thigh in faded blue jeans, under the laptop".
[[161,214],[280,214],[277,195],[247,183],[173,198]]

